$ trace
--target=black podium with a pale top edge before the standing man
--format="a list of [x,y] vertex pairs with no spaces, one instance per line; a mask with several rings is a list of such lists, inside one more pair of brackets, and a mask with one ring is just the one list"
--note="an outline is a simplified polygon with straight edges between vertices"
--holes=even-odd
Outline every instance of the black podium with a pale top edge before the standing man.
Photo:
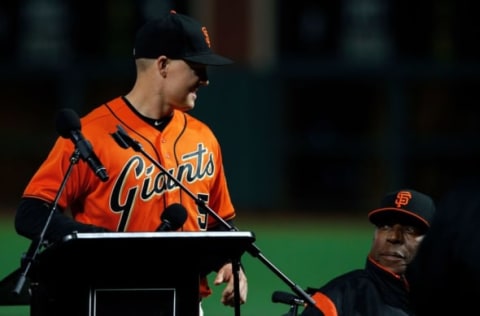
[[198,315],[210,260],[240,260],[254,241],[239,231],[67,235],[32,266],[30,315]]

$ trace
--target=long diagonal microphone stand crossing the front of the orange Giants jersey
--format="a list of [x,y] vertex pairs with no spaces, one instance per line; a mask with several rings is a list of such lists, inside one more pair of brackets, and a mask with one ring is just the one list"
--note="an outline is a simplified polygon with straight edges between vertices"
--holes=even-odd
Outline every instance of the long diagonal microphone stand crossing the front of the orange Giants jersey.
[[[158,161],[156,161],[150,154],[148,154],[142,147],[142,145],[131,138],[128,133],[123,129],[121,125],[117,125],[117,131],[115,133],[112,133],[111,136],[113,139],[117,142],[117,144],[122,147],[122,148],[132,148],[136,152],[141,152],[147,159],[152,162],[155,166],[157,166],[160,170],[162,170],[170,180],[174,181],[182,190],[184,190],[192,199],[195,200],[198,206],[204,208],[205,210],[208,211],[210,215],[215,217],[215,219],[220,222],[223,226],[225,226],[228,230],[230,231],[238,231],[238,229],[229,223],[227,223],[223,218],[221,218],[215,211],[213,211],[202,199],[198,198],[195,196],[190,190],[188,190],[183,183],[181,183],[177,178],[175,178],[168,170],[165,169]],[[282,281],[284,281],[295,293],[297,293],[301,298],[305,300],[305,302],[308,302],[312,306],[315,305],[315,301],[297,284],[295,284],[293,281],[291,281],[283,272],[281,272],[273,263],[271,263],[260,251],[260,248],[258,248],[254,243],[250,245],[250,247],[247,249],[248,253],[255,257],[258,258],[263,264],[265,264],[273,273],[275,273]],[[238,271],[239,269],[239,263],[234,263],[232,265],[233,268],[237,268]],[[238,274],[234,274],[234,287],[235,287],[235,293],[239,293],[239,284],[238,284]],[[239,314],[239,295],[235,295],[235,312],[236,315]],[[238,313],[237,313],[238,312]]]

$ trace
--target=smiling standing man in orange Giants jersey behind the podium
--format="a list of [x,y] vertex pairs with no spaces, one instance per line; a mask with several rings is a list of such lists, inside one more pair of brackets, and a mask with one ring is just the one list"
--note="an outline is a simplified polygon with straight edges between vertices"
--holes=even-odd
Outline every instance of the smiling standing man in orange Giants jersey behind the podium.
[[[187,113],[195,107],[198,89],[209,83],[207,66],[232,63],[210,46],[205,27],[174,11],[138,30],[133,51],[137,77],[132,89],[81,118],[82,133],[109,178],[99,179],[83,160],[73,168],[46,231],[49,242],[74,231],[154,232],[161,224],[162,212],[177,203],[188,213],[181,231],[228,228],[209,216],[146,157],[116,144],[111,135],[118,125],[233,226],[236,213],[219,143],[205,123]],[[70,140],[59,138],[26,186],[15,217],[20,235],[31,239],[40,236],[73,151]],[[71,214],[65,214],[66,210]],[[212,263],[214,270],[214,284],[226,283],[223,304],[235,306],[232,264],[219,260]],[[201,285],[201,296],[210,295],[206,275],[202,275]],[[247,279],[242,270],[239,293],[239,302],[244,303]]]

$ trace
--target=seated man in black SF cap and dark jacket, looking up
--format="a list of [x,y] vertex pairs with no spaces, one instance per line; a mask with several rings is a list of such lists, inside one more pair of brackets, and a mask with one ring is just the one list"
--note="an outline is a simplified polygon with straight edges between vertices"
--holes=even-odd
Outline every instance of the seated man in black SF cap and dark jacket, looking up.
[[308,306],[301,315],[414,315],[405,273],[434,213],[433,200],[423,193],[410,189],[388,193],[380,208],[368,214],[375,233],[365,268],[308,289],[323,313]]

